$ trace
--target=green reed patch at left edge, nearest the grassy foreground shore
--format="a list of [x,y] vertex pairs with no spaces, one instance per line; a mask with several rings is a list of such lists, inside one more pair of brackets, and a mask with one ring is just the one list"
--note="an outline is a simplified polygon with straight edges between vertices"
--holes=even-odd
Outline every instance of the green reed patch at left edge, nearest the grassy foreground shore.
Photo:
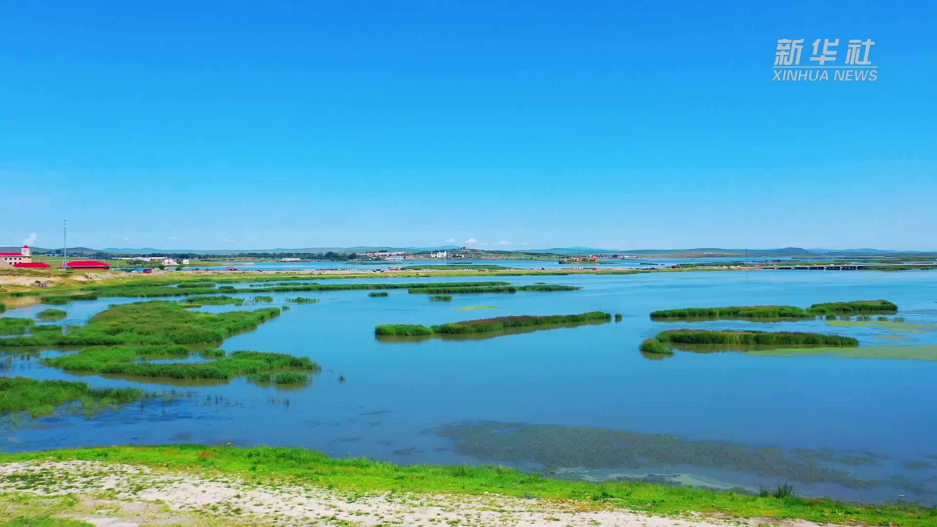
[[92,389],[85,383],[37,381],[26,377],[0,377],[0,414],[28,412],[33,416],[52,414],[55,407],[81,401],[85,414],[102,406],[121,405],[140,399],[137,388]]

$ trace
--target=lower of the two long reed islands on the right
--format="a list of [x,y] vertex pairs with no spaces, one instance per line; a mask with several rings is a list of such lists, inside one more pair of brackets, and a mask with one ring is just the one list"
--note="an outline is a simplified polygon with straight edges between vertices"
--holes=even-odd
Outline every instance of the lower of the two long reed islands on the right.
[[795,331],[730,331],[708,329],[670,329],[657,334],[661,342],[675,344],[740,344],[777,346],[843,346],[855,347],[852,337]]

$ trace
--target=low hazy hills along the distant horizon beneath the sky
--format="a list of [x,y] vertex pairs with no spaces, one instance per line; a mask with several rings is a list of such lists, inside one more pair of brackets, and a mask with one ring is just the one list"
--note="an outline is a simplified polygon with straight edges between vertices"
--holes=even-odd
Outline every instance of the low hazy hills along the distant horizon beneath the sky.
[[[194,248],[87,248],[74,247],[68,248],[69,256],[126,256],[130,254],[206,254],[215,256],[230,256],[245,252],[252,253],[317,253],[317,252],[338,252],[338,253],[364,253],[376,252],[380,250],[407,252],[425,252],[431,250],[453,250],[461,248],[460,246],[446,245],[439,247],[391,247],[391,246],[357,246],[357,247],[307,247],[307,248],[265,248],[265,249],[194,249]],[[61,248],[33,248],[33,254],[45,254],[61,250]],[[719,257],[782,257],[782,256],[815,256],[818,254],[921,254],[934,253],[937,251],[924,250],[893,250],[878,248],[664,248],[664,249],[624,249],[624,248],[588,248],[588,247],[570,247],[570,248],[535,248],[517,250],[496,251],[490,249],[473,248],[473,250],[483,252],[526,252],[534,254],[622,254],[631,256],[662,257],[662,258],[706,258],[711,256]],[[0,248],[0,252],[19,252],[19,247]],[[103,256],[102,256],[103,257]]]

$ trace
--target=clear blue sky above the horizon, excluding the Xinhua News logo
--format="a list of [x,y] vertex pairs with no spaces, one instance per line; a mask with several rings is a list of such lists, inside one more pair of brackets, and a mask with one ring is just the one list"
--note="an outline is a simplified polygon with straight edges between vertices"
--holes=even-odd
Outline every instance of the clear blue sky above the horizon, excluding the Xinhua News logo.
[[[58,247],[66,216],[92,248],[937,249],[935,24],[930,1],[0,1],[0,245]],[[871,38],[879,80],[772,83],[778,38],[802,63]]]

